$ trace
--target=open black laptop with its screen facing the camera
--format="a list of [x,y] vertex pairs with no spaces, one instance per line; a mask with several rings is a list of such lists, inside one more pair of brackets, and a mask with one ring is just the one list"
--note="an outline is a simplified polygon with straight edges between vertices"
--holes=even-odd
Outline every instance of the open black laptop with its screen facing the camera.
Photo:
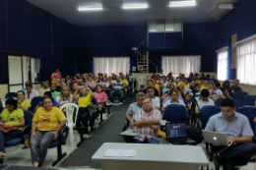
[[172,144],[195,144],[187,138],[186,123],[166,123],[166,140]]

